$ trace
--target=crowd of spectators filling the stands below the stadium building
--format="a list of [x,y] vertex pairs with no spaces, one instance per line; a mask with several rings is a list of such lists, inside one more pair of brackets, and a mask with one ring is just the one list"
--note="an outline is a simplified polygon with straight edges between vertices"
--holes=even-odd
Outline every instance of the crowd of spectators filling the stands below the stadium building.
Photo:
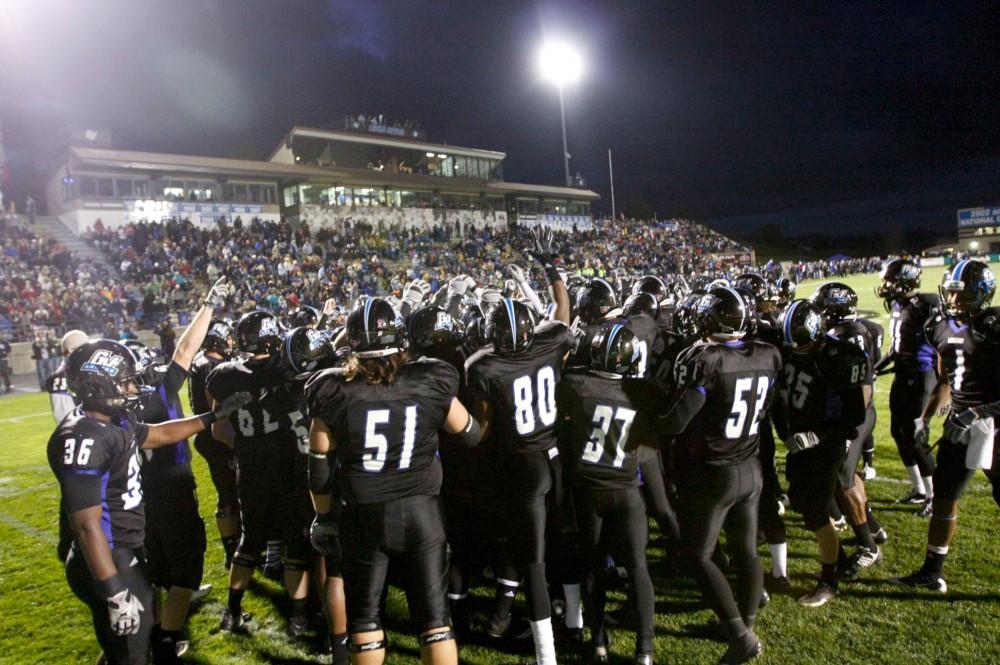
[[[0,335],[20,341],[40,327],[57,334],[71,327],[91,333],[153,328],[170,311],[197,309],[202,289],[195,282],[220,275],[238,287],[233,314],[255,307],[286,312],[329,298],[346,306],[361,294],[398,293],[417,277],[435,289],[457,274],[499,285],[507,265],[530,265],[521,253],[526,234],[517,227],[375,228],[349,219],[321,229],[239,217],[212,227],[170,220],[112,230],[98,222],[85,237],[113,274],[23,226],[5,224]],[[734,276],[746,267],[734,259],[749,255],[735,241],[681,219],[597,220],[593,229],[557,234],[557,245],[566,270],[584,276]],[[879,267],[875,258],[798,263],[790,275],[826,278]]]

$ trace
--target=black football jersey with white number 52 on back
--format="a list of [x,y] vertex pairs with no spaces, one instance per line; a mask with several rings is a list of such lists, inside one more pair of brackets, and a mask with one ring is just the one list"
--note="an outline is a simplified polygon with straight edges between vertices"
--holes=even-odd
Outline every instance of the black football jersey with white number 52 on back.
[[705,395],[705,405],[677,437],[677,445],[687,459],[705,464],[738,464],[753,457],[761,417],[781,373],[781,353],[753,340],[692,348],[686,385]]

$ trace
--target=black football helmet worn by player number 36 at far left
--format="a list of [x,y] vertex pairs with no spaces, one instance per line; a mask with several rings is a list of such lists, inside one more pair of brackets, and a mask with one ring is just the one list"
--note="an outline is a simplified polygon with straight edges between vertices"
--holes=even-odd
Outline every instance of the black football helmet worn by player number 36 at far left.
[[149,386],[140,386],[135,356],[110,339],[81,344],[66,359],[66,385],[84,411],[117,417],[141,407]]

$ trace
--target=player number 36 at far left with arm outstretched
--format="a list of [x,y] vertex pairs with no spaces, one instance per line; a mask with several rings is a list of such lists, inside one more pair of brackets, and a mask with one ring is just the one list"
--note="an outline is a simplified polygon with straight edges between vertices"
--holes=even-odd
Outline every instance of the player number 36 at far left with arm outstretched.
[[153,629],[153,587],[144,552],[140,449],[155,449],[201,432],[248,399],[236,393],[214,412],[146,425],[132,353],[111,340],[87,342],[66,362],[69,389],[81,408],[49,439],[49,466],[61,489],[73,544],[66,578],[91,611],[110,665],[145,663]]

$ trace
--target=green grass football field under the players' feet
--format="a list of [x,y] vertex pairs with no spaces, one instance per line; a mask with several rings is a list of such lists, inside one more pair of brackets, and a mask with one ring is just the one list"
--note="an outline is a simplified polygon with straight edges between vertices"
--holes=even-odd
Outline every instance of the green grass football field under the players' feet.
[[[941,269],[928,269],[925,290],[933,289]],[[872,293],[873,276],[847,280],[859,293],[862,309],[882,319],[881,303]],[[815,283],[802,284],[808,296]],[[914,593],[888,584],[923,560],[927,522],[911,507],[894,505],[908,483],[889,436],[888,378],[876,386],[879,423],[876,429],[878,478],[868,484],[876,514],[889,532],[884,561],[862,579],[842,585],[841,597],[819,609],[806,609],[794,598],[775,597],[761,611],[758,634],[765,645],[762,663],[997,663],[1000,662],[1000,547],[996,530],[1000,512],[982,475],[962,502],[959,532],[945,569],[950,593]],[[936,424],[937,425],[937,424]],[[53,428],[47,396],[25,395],[0,400],[0,663],[90,663],[98,652],[89,614],[70,593],[56,560],[57,488],[45,459]],[[779,457],[783,455],[779,446]],[[214,526],[214,489],[202,459],[196,456],[202,515],[208,527],[206,582],[215,588],[190,619],[193,663],[322,663],[308,645],[284,636],[278,610],[281,589],[257,576],[245,608],[254,614],[250,637],[219,634],[225,603],[226,575],[222,548]],[[812,586],[818,569],[811,534],[795,515],[789,525],[789,570],[796,592]],[[761,556],[770,565],[766,548]],[[656,659],[658,663],[715,663],[725,650],[706,637],[710,617],[692,582],[659,575],[660,552],[650,551],[657,588]],[[486,599],[489,589],[478,589]],[[612,596],[611,609],[622,604]],[[389,663],[418,663],[416,640],[405,623],[405,601],[393,591],[387,625]],[[618,631],[613,653],[629,658],[633,635]],[[461,660],[471,665],[519,663],[528,652],[501,652],[485,645],[462,645]],[[580,662],[569,652],[566,662]],[[622,661],[624,662],[624,660]]]

